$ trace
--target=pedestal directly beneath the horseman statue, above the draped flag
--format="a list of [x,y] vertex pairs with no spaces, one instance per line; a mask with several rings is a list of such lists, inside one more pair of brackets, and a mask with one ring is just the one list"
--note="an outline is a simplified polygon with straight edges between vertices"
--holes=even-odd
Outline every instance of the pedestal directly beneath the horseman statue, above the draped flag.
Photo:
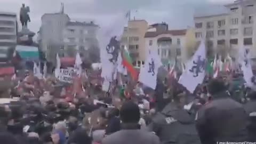
[[33,37],[35,33],[29,29],[22,29],[18,32],[17,42],[22,45],[31,45],[33,44]]

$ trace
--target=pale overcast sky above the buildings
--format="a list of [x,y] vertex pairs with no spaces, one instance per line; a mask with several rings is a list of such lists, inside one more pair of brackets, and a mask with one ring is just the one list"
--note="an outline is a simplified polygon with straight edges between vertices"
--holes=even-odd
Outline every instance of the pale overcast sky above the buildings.
[[22,3],[30,7],[29,29],[37,32],[44,13],[60,11],[61,2],[71,20],[109,23],[116,13],[132,10],[131,17],[149,23],[165,21],[169,29],[193,26],[194,15],[225,12],[223,4],[234,0],[0,0],[0,11],[19,13]]

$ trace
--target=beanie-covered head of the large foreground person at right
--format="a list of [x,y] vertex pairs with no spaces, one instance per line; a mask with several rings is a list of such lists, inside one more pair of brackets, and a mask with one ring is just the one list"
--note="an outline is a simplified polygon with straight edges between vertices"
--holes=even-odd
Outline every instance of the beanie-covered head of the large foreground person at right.
[[221,79],[212,79],[208,86],[208,92],[211,94],[211,95],[215,95],[217,93],[220,93],[220,92],[223,92],[223,91],[226,91],[226,86],[225,86],[225,83],[221,80]]

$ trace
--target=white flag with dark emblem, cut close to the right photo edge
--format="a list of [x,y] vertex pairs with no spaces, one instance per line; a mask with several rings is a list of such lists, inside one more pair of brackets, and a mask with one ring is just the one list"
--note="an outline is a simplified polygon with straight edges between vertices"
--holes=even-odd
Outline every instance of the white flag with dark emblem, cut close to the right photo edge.
[[252,88],[254,84],[251,81],[253,77],[253,73],[252,73],[252,65],[250,61],[249,49],[243,48],[239,51],[239,63],[242,65],[242,70],[243,70],[243,75],[244,75],[244,80],[246,82],[246,85]]

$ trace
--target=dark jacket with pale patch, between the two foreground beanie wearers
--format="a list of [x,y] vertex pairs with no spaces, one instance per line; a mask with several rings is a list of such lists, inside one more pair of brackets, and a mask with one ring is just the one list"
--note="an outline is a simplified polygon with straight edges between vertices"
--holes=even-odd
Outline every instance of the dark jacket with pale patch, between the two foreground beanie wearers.
[[158,135],[161,143],[200,143],[193,118],[174,102],[157,113],[148,128]]

